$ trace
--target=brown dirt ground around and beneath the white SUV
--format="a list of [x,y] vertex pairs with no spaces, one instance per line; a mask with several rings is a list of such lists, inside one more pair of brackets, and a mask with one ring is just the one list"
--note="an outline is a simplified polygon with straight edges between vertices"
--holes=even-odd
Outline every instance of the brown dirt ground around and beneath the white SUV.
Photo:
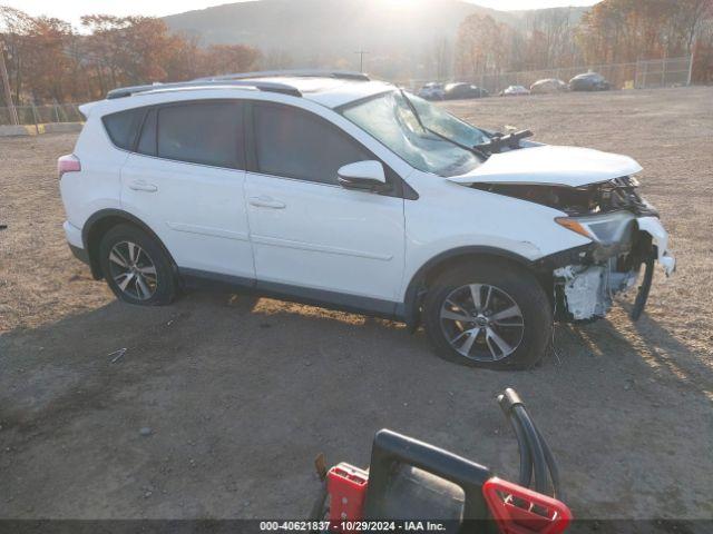
[[421,332],[309,306],[119,304],[65,243],[55,161],[75,136],[2,139],[0,517],[302,517],[315,454],[367,464],[382,427],[515,479],[506,386],[548,437],[575,516],[713,517],[713,88],[447,108],[643,165],[678,269],[656,274],[638,323],[623,303],[558,326],[538,368],[498,373],[439,359]]

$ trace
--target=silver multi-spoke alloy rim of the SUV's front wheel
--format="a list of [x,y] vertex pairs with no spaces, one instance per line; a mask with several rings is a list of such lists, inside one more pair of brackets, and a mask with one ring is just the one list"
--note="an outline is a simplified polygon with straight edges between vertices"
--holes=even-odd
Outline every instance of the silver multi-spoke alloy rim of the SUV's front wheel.
[[441,306],[440,323],[450,346],[476,362],[508,357],[525,334],[517,303],[488,284],[469,284],[451,291]]

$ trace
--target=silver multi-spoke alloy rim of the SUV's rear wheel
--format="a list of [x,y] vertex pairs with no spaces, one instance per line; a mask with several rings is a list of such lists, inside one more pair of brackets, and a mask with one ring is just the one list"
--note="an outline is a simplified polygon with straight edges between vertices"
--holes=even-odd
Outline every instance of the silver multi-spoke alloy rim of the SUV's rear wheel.
[[133,241],[111,247],[109,271],[118,288],[134,299],[148,300],[156,293],[156,266],[146,250]]

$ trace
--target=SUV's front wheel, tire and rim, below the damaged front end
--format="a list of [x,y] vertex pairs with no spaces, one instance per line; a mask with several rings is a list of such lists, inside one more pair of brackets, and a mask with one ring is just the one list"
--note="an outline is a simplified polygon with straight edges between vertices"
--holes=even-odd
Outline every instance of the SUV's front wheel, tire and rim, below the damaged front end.
[[533,274],[509,263],[457,266],[430,285],[426,334],[443,358],[491,368],[528,368],[551,336],[549,299]]

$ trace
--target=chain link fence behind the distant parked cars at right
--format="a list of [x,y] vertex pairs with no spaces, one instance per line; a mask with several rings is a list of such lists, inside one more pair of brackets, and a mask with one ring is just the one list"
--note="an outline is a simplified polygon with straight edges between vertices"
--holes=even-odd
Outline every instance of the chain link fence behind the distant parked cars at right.
[[691,58],[667,58],[631,63],[604,63],[587,67],[568,67],[560,69],[527,70],[520,72],[497,72],[479,76],[466,76],[458,80],[410,79],[399,80],[402,87],[418,90],[431,81],[465,81],[481,87],[491,95],[497,95],[508,86],[529,88],[537,80],[557,78],[565,82],[583,72],[598,72],[611,83],[612,88],[654,88],[675,87],[690,83]]

